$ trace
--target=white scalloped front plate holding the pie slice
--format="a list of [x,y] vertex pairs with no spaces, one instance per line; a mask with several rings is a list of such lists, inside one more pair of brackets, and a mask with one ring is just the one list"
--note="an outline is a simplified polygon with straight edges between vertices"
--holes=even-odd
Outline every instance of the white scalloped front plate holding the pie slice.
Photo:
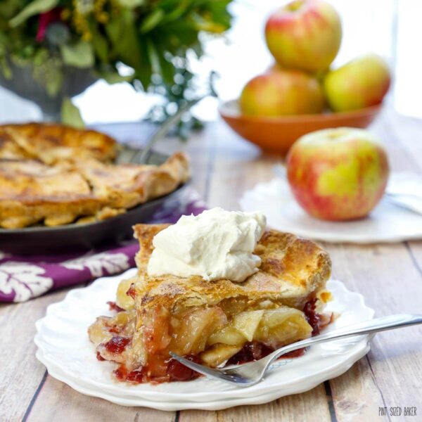
[[[340,375],[369,351],[369,336],[359,336],[315,345],[296,359],[281,359],[268,376],[250,388],[236,388],[209,378],[185,383],[129,385],[113,380],[113,364],[96,359],[89,342],[88,326],[98,315],[108,315],[117,284],[133,276],[136,269],[114,277],[103,277],[87,288],[70,290],[62,302],[50,305],[37,321],[37,358],[51,376],[86,395],[102,397],[125,406],[161,410],[225,409],[240,404],[260,404],[314,388]],[[328,281],[334,300],[329,309],[340,316],[331,331],[340,326],[373,318],[362,295],[352,293],[339,281]]]

